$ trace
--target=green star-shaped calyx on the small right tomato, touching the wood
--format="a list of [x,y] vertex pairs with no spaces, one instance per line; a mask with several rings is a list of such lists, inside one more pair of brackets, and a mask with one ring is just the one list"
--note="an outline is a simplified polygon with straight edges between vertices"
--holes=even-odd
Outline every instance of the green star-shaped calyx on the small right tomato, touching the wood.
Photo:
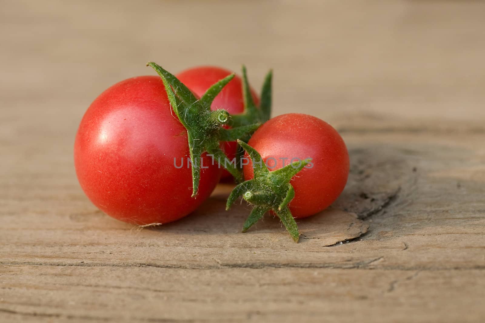
[[273,211],[279,217],[285,228],[290,232],[295,242],[300,239],[300,233],[293,215],[291,215],[288,203],[294,198],[295,191],[291,186],[291,178],[307,166],[311,158],[296,161],[283,168],[270,171],[263,162],[261,155],[251,146],[238,140],[238,143],[249,154],[253,161],[254,178],[237,185],[227,198],[226,210],[240,196],[254,205],[251,214],[242,227],[242,232],[247,231],[253,224],[258,222],[268,211]]

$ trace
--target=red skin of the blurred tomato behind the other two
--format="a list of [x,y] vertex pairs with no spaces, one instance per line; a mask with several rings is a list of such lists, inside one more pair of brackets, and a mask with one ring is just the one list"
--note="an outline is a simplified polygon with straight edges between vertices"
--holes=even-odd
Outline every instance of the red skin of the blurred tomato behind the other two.
[[[232,72],[224,68],[215,66],[200,66],[182,71],[178,73],[176,77],[196,96],[200,97],[210,88],[212,84],[230,74],[232,74]],[[250,90],[254,103],[259,105],[258,95],[256,95],[256,92],[254,92],[253,89]],[[215,111],[220,108],[226,109],[230,114],[240,114],[244,111],[241,77],[235,76],[214,98],[210,109]],[[225,142],[223,149],[226,152],[229,160],[232,160],[232,158],[236,156],[237,142]],[[228,179],[231,177],[231,174],[224,169],[222,177],[224,179]]]

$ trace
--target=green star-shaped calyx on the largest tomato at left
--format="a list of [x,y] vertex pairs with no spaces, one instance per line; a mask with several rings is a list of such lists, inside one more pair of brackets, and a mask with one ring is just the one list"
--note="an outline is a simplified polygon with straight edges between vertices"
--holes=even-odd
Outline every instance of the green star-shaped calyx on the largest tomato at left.
[[[170,105],[180,123],[187,129],[192,164],[192,197],[197,195],[201,170],[200,160],[203,153],[212,156],[219,166],[227,169],[236,182],[242,182],[241,171],[236,168],[235,163],[227,160],[226,154],[220,148],[220,142],[248,137],[258,129],[261,123],[236,126],[231,124],[231,115],[226,110],[210,110],[210,104],[234,77],[234,74],[213,84],[200,99],[197,99],[177,77],[164,70],[161,66],[154,62],[148,62],[146,66],[153,67],[158,75],[162,77]],[[223,127],[225,124],[231,124],[232,128],[225,129]]]

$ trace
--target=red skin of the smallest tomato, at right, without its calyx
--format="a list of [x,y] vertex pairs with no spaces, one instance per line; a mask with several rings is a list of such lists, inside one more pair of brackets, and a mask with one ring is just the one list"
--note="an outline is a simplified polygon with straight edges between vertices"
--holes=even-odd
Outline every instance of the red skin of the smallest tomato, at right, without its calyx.
[[[276,159],[276,163],[268,161],[270,170],[284,166],[280,158],[289,158],[285,165],[291,158],[312,158],[313,167],[304,168],[290,182],[295,190],[289,204],[293,217],[322,211],[339,197],[347,183],[349,154],[345,143],[330,124],[319,118],[301,113],[277,116],[259,127],[248,144],[261,154],[263,161]],[[252,179],[252,162],[244,165],[243,171],[245,180]]]

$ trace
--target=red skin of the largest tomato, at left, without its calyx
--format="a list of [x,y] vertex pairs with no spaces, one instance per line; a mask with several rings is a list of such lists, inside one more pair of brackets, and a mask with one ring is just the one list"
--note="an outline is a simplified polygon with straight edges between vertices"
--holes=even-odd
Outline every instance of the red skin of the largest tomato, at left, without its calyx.
[[[196,198],[187,131],[170,108],[162,79],[133,77],[101,93],[88,108],[74,144],[76,173],[88,198],[119,220],[146,225],[193,212],[222,169],[203,157]],[[180,166],[184,158],[183,167]]]

